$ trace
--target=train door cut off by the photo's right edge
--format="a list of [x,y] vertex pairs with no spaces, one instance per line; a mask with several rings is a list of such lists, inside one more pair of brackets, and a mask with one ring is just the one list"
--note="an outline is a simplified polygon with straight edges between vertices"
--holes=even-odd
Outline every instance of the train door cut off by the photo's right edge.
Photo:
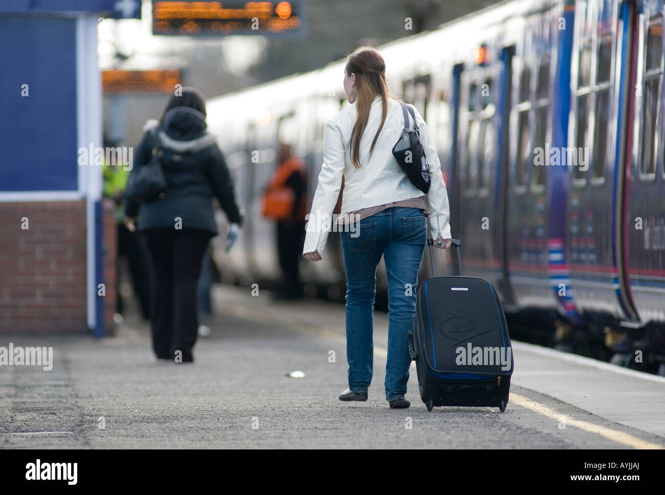
[[631,71],[626,74],[626,79],[632,75],[627,85],[634,100],[634,110],[628,114],[632,146],[626,146],[630,166],[624,175],[622,231],[616,242],[624,248],[622,278],[639,317],[624,326],[641,326],[649,321],[665,322],[663,2],[642,3],[642,10],[634,13],[634,23],[629,22],[630,13],[632,9],[624,15],[626,23],[636,27],[631,37],[635,42]]

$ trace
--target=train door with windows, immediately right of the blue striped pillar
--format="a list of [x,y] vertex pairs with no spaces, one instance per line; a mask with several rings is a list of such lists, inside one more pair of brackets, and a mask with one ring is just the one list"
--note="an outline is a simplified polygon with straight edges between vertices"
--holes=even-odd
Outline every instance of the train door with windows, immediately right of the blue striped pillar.
[[608,325],[626,315],[615,242],[618,177],[622,162],[619,110],[619,4],[577,1],[571,69],[568,228],[575,305],[591,321]]

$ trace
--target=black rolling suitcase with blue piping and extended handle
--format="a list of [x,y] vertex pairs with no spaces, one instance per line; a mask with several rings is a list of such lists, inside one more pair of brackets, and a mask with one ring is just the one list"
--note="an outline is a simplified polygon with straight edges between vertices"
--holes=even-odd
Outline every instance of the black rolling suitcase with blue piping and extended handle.
[[418,289],[416,319],[409,351],[416,361],[420,398],[434,406],[489,406],[501,412],[508,403],[513,355],[505,315],[489,281],[462,277],[460,241],[458,277],[434,273]]

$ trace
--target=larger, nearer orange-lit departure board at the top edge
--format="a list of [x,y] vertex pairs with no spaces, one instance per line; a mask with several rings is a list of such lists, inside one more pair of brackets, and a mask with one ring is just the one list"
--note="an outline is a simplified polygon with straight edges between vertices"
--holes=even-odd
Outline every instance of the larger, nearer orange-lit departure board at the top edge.
[[303,0],[152,1],[154,35],[302,34]]

